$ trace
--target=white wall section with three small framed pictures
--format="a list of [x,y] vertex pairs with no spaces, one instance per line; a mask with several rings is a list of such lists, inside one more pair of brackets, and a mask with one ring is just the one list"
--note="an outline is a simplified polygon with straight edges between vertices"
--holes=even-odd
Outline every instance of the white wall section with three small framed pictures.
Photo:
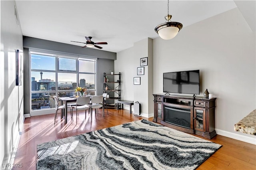
[[[153,116],[152,45],[153,40],[150,38],[136,42],[133,47],[118,52],[114,63],[115,73],[121,72],[121,99],[140,102],[141,115],[144,117]],[[137,75],[140,58],[144,57],[148,57],[148,65],[144,66],[144,75]],[[133,84],[133,77],[140,77],[140,85]],[[148,101],[151,101],[150,105]]]

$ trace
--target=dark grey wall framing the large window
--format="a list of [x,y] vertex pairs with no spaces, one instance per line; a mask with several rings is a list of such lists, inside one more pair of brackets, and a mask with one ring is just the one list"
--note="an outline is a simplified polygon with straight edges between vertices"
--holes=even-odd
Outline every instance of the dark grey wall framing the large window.
[[[114,71],[114,60],[116,59],[116,53],[103,51],[93,48],[81,48],[80,46],[70,45],[66,43],[53,42],[48,40],[42,40],[38,38],[31,38],[23,36],[24,45],[24,114],[30,113],[30,88],[29,88],[29,53],[28,49],[39,49],[46,51],[53,51],[59,53],[68,53],[72,55],[84,55],[88,57],[98,58],[96,65],[96,87],[97,95],[102,95],[103,93],[103,73],[110,73],[109,70]],[[49,52],[50,53],[50,52]],[[25,85],[24,84],[24,85]]]

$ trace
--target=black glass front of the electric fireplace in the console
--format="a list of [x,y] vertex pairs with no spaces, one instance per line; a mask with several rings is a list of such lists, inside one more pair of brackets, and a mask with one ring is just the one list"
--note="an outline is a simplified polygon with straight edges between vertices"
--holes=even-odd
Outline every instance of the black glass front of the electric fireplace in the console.
[[164,106],[164,121],[176,126],[190,128],[190,109]]

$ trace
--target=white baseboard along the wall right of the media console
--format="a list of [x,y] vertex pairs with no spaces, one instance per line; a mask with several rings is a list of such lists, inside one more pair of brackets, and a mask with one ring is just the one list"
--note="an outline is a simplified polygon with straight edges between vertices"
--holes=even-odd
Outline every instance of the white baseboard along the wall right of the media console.
[[220,130],[220,129],[215,129],[215,130],[216,130],[216,133],[219,135],[256,145],[256,138],[248,137],[248,136],[244,136],[244,135],[236,134],[236,133],[232,133],[232,132],[227,132],[227,131]]

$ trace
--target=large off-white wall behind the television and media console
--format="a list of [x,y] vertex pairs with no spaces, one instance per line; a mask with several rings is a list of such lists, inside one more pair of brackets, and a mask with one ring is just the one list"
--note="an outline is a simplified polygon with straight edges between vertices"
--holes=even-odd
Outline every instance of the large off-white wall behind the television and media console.
[[154,39],[153,92],[162,93],[164,72],[200,69],[200,95],[207,88],[217,97],[216,129],[255,138],[234,131],[256,108],[255,40],[238,8],[185,27],[172,40]]

